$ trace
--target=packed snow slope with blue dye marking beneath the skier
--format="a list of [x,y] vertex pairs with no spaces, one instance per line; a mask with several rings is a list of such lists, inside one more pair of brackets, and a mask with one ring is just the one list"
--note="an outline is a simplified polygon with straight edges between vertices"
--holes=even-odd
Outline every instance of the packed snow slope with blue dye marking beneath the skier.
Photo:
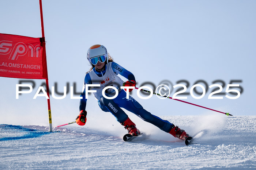
[[1,124],[0,169],[256,169],[256,116],[161,118],[195,136],[194,143],[185,146],[138,117],[133,119],[146,135],[134,142],[123,142],[126,130],[112,122],[54,132]]

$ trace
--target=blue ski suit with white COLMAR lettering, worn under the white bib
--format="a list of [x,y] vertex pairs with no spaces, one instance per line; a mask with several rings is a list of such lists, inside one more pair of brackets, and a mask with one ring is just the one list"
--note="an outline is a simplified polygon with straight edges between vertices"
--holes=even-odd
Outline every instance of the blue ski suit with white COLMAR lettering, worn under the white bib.
[[[96,73],[97,76],[100,78],[100,77],[104,76],[104,74],[106,73],[106,69],[108,69],[108,68],[112,69],[116,75],[120,74],[121,76],[127,78],[128,80],[135,81],[135,77],[133,76],[133,74],[131,72],[129,72],[124,67],[118,65],[115,62],[112,62],[111,67],[108,67],[107,65],[105,65],[105,69],[102,70],[101,72],[98,72],[97,70],[95,70],[95,67],[94,67],[92,72]],[[85,94],[86,94],[86,90],[88,90],[88,89],[85,88],[85,85],[93,84],[92,82],[93,81],[91,80],[89,73],[87,73],[84,78],[83,92],[80,95],[81,97],[83,97],[82,99],[80,99],[80,107],[79,107],[80,111],[86,109],[87,99],[85,98]],[[150,112],[146,111],[142,107],[142,105],[140,105],[138,103],[138,101],[136,101],[130,95],[129,95],[129,98],[127,99],[126,92],[123,89],[121,89],[118,92],[118,96],[116,98],[107,99],[103,96],[100,97],[98,100],[98,104],[99,104],[99,107],[102,109],[102,111],[112,113],[116,117],[116,119],[119,123],[123,123],[128,118],[127,114],[121,109],[121,108],[124,108],[124,109],[127,109],[128,111],[134,113],[135,115],[139,116],[144,121],[147,121],[147,122],[157,126],[158,128],[160,128],[161,130],[163,130],[165,132],[170,132],[170,130],[172,129],[172,126],[173,126],[173,124],[170,123],[169,121],[162,120],[161,118],[159,118],[155,115],[152,115]]]

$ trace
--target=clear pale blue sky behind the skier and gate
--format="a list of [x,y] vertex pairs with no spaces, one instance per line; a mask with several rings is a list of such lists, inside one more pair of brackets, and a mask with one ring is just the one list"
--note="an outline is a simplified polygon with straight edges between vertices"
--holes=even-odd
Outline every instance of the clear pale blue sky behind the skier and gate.
[[[232,115],[255,115],[255,7],[251,0],[42,0],[49,86],[59,92],[75,86],[80,93],[90,69],[87,50],[101,44],[135,75],[137,87],[168,81],[172,97],[178,89],[173,86],[184,84],[185,101]],[[0,33],[42,36],[39,1],[1,0],[0,15]],[[35,82],[32,93],[16,99],[20,80],[25,79],[0,77],[0,124],[47,125],[47,100],[33,99],[45,80],[30,80]],[[191,96],[194,84],[208,89],[203,98]],[[212,84],[223,87],[223,99],[208,99]],[[225,97],[227,84],[239,84],[234,89],[242,91],[241,96]],[[157,116],[222,114],[155,95],[143,100],[136,90],[132,96]],[[74,121],[79,114],[79,100],[70,99],[70,92],[65,99],[50,97],[50,102],[53,125]],[[101,111],[92,95],[86,110],[87,117],[110,114]]]

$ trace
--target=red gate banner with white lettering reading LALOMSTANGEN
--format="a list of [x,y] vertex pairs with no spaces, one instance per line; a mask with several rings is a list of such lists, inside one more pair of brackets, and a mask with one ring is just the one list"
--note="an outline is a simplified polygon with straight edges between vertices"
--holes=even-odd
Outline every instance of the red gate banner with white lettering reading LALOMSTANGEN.
[[0,34],[0,77],[47,79],[40,38]]

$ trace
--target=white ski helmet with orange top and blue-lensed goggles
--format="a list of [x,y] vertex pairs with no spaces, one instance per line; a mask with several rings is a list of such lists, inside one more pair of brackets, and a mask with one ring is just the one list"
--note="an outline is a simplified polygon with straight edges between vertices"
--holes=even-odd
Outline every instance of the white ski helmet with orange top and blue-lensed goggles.
[[102,45],[93,45],[87,51],[87,59],[90,62],[90,65],[97,64],[97,62],[106,62],[108,63],[108,52],[106,47]]

